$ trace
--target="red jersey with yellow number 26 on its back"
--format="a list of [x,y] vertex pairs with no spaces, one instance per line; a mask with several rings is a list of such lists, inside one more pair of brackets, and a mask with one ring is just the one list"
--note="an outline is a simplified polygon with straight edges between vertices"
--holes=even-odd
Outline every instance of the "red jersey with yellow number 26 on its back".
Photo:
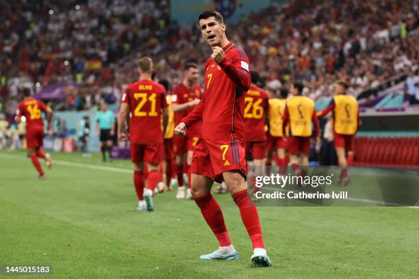
[[244,94],[244,139],[249,142],[266,139],[265,121],[268,111],[268,93],[258,87],[251,87]]

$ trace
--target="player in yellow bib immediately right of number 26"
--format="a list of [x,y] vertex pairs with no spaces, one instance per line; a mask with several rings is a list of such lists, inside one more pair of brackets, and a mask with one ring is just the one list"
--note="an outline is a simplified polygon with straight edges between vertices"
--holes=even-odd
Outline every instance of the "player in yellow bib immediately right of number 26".
[[288,145],[285,140],[285,134],[282,131],[282,116],[285,111],[287,97],[288,90],[282,88],[279,92],[279,98],[274,96],[269,99],[268,146],[277,151],[274,160],[279,168],[279,174],[285,174],[286,170],[285,151]]

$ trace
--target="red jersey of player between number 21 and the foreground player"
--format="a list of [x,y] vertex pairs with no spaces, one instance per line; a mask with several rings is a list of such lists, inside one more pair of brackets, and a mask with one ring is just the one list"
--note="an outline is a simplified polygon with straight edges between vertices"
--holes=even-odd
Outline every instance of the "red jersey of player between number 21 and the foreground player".
[[[172,103],[173,104],[184,104],[193,101],[195,98],[201,98],[201,86],[195,84],[190,90],[183,83],[179,83],[172,90]],[[188,107],[183,111],[175,112],[175,126],[181,122],[181,119],[187,116],[193,107]],[[198,121],[188,127],[188,136],[199,137],[199,129],[201,129],[201,121]]]

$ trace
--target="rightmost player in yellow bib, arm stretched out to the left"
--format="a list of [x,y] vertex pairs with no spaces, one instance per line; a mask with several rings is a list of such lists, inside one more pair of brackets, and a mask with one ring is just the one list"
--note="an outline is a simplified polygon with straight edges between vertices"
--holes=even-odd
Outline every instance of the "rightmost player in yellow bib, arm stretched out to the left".
[[[333,111],[333,134],[335,150],[339,165],[342,168],[339,184],[348,185],[348,165],[352,165],[354,156],[354,137],[359,125],[358,102],[353,96],[346,95],[348,84],[344,81],[335,83],[335,96],[323,111],[317,113],[318,117],[325,116]],[[347,154],[347,157],[346,157]]]

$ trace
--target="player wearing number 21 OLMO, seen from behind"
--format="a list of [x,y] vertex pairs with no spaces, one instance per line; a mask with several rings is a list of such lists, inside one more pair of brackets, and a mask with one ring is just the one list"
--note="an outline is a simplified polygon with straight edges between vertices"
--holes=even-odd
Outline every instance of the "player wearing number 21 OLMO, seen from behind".
[[[129,114],[129,141],[131,161],[134,165],[134,187],[138,196],[138,209],[154,210],[153,191],[160,182],[159,164],[162,161],[163,131],[168,122],[166,89],[151,79],[153,62],[142,57],[139,62],[140,81],[131,83],[122,96],[118,115],[118,138],[126,141],[124,123]],[[162,129],[163,116],[163,129]],[[144,161],[147,163],[147,189],[144,190]],[[145,200],[145,202],[144,202]]]

